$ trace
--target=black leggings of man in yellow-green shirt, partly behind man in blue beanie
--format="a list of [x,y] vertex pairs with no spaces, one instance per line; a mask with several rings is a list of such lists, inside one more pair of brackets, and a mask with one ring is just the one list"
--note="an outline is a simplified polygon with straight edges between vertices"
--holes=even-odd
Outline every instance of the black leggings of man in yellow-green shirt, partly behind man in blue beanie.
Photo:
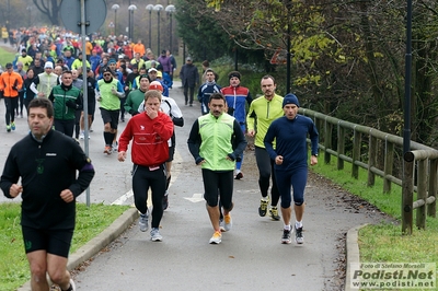
[[278,193],[277,183],[275,181],[274,160],[270,159],[266,149],[255,147],[255,161],[258,167],[258,186],[263,197],[267,196],[269,189],[269,178],[273,179],[273,188],[270,189],[270,206],[277,206],[280,195]]

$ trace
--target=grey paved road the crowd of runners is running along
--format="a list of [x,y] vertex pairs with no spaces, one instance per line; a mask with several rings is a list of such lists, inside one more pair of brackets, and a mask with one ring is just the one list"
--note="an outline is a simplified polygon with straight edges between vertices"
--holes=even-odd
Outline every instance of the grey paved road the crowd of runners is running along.
[[[253,152],[246,152],[245,177],[234,183],[233,229],[220,245],[209,245],[212,234],[205,202],[200,168],[186,147],[188,131],[199,115],[199,106],[184,106],[178,83],[171,90],[183,110],[185,126],[176,128],[177,151],[170,188],[170,207],[161,222],[163,242],[152,243],[149,232],[137,224],[111,247],[77,272],[78,290],[341,290],[335,272],[339,236],[348,229],[381,219],[379,213],[349,209],[346,194],[326,187],[311,175],[304,214],[306,243],[280,244],[283,223],[257,213],[260,191]],[[16,120],[16,130],[5,132],[4,104],[0,102],[0,165],[8,149],[27,133],[26,119]],[[99,110],[90,139],[90,156],[96,168],[91,185],[92,202],[131,205],[129,162],[103,151]],[[120,124],[119,129],[124,128]],[[4,201],[3,197],[0,202]],[[19,199],[18,199],[19,200]],[[85,201],[82,194],[80,201]]]

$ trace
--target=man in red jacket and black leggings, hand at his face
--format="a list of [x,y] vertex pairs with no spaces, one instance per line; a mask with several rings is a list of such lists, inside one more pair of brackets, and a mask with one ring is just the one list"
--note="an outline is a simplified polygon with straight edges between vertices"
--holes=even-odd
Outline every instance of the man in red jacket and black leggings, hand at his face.
[[129,119],[118,140],[118,161],[126,160],[129,141],[132,140],[131,161],[132,191],[137,209],[140,211],[140,231],[148,230],[148,189],[152,191],[151,240],[162,241],[159,232],[163,216],[161,207],[165,193],[165,161],[169,159],[168,140],[173,133],[173,121],[160,110],[161,93],[155,90],[145,94],[145,113]]

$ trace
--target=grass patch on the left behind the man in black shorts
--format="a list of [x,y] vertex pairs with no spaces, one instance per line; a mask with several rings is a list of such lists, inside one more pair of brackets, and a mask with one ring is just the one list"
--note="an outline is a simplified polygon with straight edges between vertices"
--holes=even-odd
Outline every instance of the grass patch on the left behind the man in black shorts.
[[[77,224],[70,253],[105,230],[129,206],[77,205]],[[30,280],[20,225],[20,203],[0,203],[0,290],[12,291]]]

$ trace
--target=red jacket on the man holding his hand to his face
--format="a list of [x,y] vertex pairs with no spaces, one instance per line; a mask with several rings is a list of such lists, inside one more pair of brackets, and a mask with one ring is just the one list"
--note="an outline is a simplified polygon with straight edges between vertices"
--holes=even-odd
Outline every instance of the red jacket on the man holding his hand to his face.
[[132,139],[131,161],[137,165],[158,166],[168,161],[168,140],[173,133],[173,121],[159,112],[154,119],[146,113],[131,117],[118,140],[118,151],[127,151]]

